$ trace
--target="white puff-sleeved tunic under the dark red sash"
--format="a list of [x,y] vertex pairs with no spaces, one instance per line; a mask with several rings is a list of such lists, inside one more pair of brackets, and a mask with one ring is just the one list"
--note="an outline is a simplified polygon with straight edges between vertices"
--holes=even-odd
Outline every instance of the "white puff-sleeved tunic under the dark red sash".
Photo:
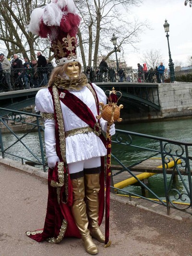
[[[104,91],[97,85],[92,85],[96,90],[99,102],[103,102],[104,104],[106,104],[106,95]],[[97,122],[98,120],[96,119],[96,101],[91,91],[85,86],[80,91],[71,90],[70,92],[79,99],[81,99],[89,107],[89,109],[93,112],[93,115],[95,116],[95,120]],[[71,131],[76,128],[88,126],[87,123],[82,121],[77,115],[72,112],[72,110],[70,110],[62,102],[60,102],[60,105],[64,118],[65,132]],[[52,96],[48,91],[48,88],[41,89],[37,92],[36,108],[41,112],[54,113]],[[56,155],[55,152],[50,152],[47,146],[46,154],[48,157]],[[68,164],[90,158],[105,156],[106,154],[107,150],[103,142],[94,132],[88,134],[75,134],[73,136],[66,137],[66,160]]]

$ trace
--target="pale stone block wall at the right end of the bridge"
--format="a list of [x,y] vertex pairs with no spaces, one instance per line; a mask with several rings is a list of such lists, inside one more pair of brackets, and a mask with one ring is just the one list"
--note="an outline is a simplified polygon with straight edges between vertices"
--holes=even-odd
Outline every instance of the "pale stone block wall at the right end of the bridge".
[[159,84],[161,118],[192,115],[192,83]]

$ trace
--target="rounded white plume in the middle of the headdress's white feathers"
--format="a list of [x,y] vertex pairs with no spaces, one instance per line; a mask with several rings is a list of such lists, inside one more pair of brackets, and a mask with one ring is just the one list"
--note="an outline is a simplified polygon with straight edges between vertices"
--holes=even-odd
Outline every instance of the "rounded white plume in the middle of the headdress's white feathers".
[[49,3],[43,11],[43,23],[48,26],[59,26],[62,12],[55,3]]

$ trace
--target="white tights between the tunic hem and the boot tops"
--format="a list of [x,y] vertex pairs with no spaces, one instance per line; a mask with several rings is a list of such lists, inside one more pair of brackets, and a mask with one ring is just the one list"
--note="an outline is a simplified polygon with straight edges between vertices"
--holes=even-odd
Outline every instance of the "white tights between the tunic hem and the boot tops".
[[90,169],[101,166],[101,158],[90,158],[88,160],[79,161],[76,163],[68,164],[69,173],[76,173],[84,169]]

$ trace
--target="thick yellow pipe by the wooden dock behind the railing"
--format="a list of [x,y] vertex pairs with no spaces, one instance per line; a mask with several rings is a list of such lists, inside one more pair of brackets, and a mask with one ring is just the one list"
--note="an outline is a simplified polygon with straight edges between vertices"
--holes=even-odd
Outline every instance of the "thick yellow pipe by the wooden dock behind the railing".
[[[180,163],[181,163],[181,160],[179,159],[177,163],[180,164]],[[168,163],[168,166],[165,165],[165,168],[166,168],[166,169],[172,168],[172,167],[174,166],[174,164],[175,164],[174,161],[170,161],[170,162]],[[156,167],[156,168],[163,168],[163,167],[162,167],[162,165],[159,165],[159,166]],[[139,175],[136,175],[136,177],[137,177],[140,181],[142,181],[142,180],[147,179],[147,178],[149,178],[149,177],[151,177],[151,176],[153,176],[153,175],[155,175],[155,174],[156,174],[156,173],[153,173],[153,172],[143,172],[143,173],[141,173],[141,174],[139,174]],[[137,182],[138,182],[137,179],[135,179],[134,177],[132,177],[132,178],[126,179],[126,180],[124,180],[124,181],[122,181],[122,182],[119,182],[119,183],[114,184],[114,187],[121,189],[121,188],[127,187],[127,186],[132,185],[132,184],[137,183]]]

